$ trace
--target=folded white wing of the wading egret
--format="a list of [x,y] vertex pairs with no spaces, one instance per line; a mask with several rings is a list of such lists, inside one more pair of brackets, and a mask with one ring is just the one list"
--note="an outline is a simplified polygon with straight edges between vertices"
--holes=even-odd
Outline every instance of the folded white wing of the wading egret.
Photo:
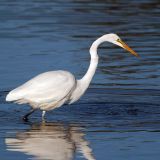
[[27,100],[35,103],[60,101],[75,87],[75,77],[67,71],[42,73],[12,90],[6,97],[8,101]]

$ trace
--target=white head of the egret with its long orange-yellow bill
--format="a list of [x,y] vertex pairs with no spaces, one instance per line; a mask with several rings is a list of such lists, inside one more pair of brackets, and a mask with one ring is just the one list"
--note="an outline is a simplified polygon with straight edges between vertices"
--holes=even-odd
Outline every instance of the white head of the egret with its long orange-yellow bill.
[[133,51],[133,49],[131,49],[126,43],[124,43],[118,35],[114,33],[106,34],[103,36],[103,39],[106,39],[108,42],[111,42],[113,44],[116,44],[124,48],[125,50],[133,54],[134,56],[138,57],[138,54],[135,51]]

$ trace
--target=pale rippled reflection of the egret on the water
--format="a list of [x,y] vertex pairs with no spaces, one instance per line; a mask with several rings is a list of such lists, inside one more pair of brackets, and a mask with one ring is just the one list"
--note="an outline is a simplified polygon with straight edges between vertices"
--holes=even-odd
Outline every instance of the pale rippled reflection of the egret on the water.
[[15,138],[6,138],[7,150],[31,155],[37,160],[71,160],[81,152],[87,160],[94,160],[82,128],[62,123],[32,124]]

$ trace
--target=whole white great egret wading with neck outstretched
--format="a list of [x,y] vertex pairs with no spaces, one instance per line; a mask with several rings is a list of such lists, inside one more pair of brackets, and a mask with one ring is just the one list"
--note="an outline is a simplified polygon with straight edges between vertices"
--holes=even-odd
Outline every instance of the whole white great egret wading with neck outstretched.
[[10,91],[6,101],[15,101],[18,104],[28,103],[32,110],[23,119],[36,109],[42,110],[42,118],[45,112],[62,106],[64,103],[71,104],[77,101],[88,88],[98,65],[97,48],[103,42],[116,44],[131,54],[138,56],[120,37],[116,34],[105,34],[93,42],[90,48],[91,61],[86,74],[79,80],[68,71],[49,71],[37,75],[23,85]]

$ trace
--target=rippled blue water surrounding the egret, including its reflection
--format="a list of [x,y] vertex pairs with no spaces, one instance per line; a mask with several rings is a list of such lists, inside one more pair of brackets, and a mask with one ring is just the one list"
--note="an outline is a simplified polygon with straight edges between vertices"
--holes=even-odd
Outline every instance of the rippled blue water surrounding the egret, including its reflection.
[[[160,153],[158,0],[39,0],[0,2],[0,155],[8,159],[152,160]],[[5,95],[33,76],[65,69],[77,78],[89,65],[89,47],[114,32],[140,58],[111,44],[89,90],[71,105],[47,113],[46,123]]]

